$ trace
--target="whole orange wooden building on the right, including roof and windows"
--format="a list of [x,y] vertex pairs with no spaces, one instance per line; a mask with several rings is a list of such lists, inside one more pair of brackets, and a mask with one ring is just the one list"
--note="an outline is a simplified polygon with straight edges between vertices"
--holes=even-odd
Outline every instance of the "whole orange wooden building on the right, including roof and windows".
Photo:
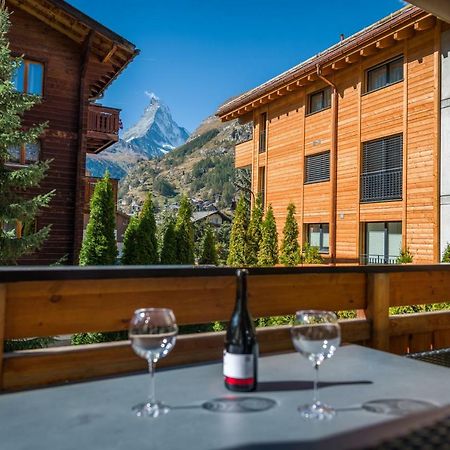
[[235,166],[332,262],[439,262],[450,242],[450,25],[407,6],[223,105]]

